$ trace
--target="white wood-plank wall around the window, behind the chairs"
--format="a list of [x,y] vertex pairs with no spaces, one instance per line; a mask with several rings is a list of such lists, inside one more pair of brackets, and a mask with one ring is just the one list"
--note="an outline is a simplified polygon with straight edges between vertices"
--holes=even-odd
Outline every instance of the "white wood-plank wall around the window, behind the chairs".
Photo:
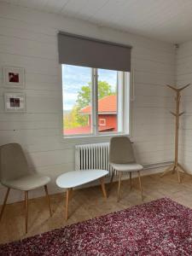
[[[20,143],[29,165],[52,178],[73,170],[74,145],[108,141],[106,138],[64,140],[61,136],[61,73],[57,58],[58,30],[133,46],[136,100],[133,102],[132,136],[137,158],[143,164],[172,160],[172,92],[175,51],[171,44],[152,41],[79,20],[0,4],[0,144]],[[26,113],[4,113],[4,66],[26,69]],[[42,190],[31,194],[41,195]],[[0,188],[0,202],[5,190]],[[20,192],[9,201],[23,198]]]

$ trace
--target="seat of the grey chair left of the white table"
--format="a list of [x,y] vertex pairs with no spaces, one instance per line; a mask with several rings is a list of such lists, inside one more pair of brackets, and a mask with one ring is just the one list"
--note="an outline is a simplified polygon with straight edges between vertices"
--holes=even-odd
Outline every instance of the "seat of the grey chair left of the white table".
[[37,189],[41,186],[49,183],[50,178],[46,176],[41,176],[39,174],[29,174],[17,179],[12,179],[9,181],[3,181],[3,185],[9,187],[10,189],[18,189],[22,191],[28,191],[32,189]]

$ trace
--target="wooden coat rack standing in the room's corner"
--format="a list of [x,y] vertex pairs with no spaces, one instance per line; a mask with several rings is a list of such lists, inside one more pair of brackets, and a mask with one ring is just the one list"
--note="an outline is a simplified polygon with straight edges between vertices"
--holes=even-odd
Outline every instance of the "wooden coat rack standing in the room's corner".
[[177,178],[178,178],[178,182],[181,183],[181,177],[180,177],[180,172],[186,172],[186,170],[183,168],[183,166],[181,166],[178,163],[178,129],[179,129],[179,117],[181,115],[183,115],[184,112],[179,111],[180,108],[180,100],[181,100],[181,91],[184,90],[185,88],[187,88],[190,84],[187,84],[185,86],[183,86],[182,88],[176,88],[173,87],[172,85],[168,85],[167,86],[169,88],[171,88],[172,90],[174,90],[176,92],[176,113],[172,113],[172,115],[175,116],[175,160],[174,163],[172,164],[172,166],[168,166],[166,168],[166,170],[162,173],[161,177],[163,177],[164,175],[166,175],[167,172],[172,172],[175,173],[177,172]]

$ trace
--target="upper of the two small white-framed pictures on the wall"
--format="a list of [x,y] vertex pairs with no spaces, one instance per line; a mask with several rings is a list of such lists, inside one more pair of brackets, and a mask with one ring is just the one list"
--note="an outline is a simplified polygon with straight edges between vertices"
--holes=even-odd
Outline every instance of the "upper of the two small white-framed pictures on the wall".
[[5,87],[25,88],[25,69],[23,67],[3,67],[3,84]]

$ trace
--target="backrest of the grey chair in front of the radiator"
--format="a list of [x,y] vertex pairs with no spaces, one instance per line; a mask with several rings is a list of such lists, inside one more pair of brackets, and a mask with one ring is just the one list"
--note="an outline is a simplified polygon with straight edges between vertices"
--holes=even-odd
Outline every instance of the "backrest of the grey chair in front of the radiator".
[[135,162],[135,156],[128,137],[112,137],[109,147],[109,162],[113,164],[129,164]]

